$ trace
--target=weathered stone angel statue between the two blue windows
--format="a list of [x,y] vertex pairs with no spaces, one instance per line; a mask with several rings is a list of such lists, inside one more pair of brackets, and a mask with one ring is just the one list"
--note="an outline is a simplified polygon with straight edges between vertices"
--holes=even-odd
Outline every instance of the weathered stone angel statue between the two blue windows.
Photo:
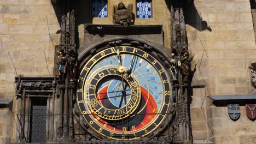
[[114,5],[113,22],[114,25],[128,26],[133,25],[134,15],[132,13],[132,4],[126,8],[124,3],[120,2],[118,6]]

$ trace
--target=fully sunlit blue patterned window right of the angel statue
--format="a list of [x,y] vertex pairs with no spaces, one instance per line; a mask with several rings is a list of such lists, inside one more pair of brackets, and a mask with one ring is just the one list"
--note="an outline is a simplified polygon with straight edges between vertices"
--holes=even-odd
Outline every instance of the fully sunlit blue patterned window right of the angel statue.
[[137,0],[136,8],[138,18],[152,17],[152,0]]

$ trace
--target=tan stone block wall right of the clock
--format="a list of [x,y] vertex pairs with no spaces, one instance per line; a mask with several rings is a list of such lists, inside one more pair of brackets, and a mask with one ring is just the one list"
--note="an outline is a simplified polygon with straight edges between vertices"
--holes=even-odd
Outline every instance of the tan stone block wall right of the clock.
[[[194,140],[215,143],[255,143],[255,122],[241,106],[238,121],[226,106],[214,106],[208,95],[251,94],[248,66],[256,60],[249,0],[195,0],[186,9],[189,50],[195,53],[191,123]],[[208,123],[207,123],[208,122]],[[207,132],[207,133],[205,133]]]

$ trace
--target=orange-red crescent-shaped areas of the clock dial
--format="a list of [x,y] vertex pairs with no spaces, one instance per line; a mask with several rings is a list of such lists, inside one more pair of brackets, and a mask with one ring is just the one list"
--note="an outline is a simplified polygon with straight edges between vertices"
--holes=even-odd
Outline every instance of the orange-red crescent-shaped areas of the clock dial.
[[[99,101],[99,103],[102,103],[103,98],[106,96],[107,94],[107,89],[108,86],[104,87],[101,89],[100,92],[98,92],[99,94],[97,94],[97,99]],[[141,95],[144,99],[144,101],[146,101],[146,106],[144,109],[146,109],[146,113],[150,113],[150,115],[145,115],[141,124],[137,125],[135,127],[135,129],[133,130],[138,130],[138,129],[142,129],[144,128],[146,125],[148,125],[156,116],[156,114],[152,114],[152,113],[158,113],[158,106],[156,105],[156,101],[154,99],[154,97],[152,96],[152,94],[150,94],[147,89],[141,87]],[[109,130],[113,130],[113,131],[117,131],[117,132],[122,132],[123,130],[121,129],[116,129],[110,125],[107,124],[106,121],[104,121],[103,119],[101,119],[98,116],[94,116],[95,120],[101,124],[103,127],[106,127]],[[127,132],[133,131],[133,130],[127,130]]]

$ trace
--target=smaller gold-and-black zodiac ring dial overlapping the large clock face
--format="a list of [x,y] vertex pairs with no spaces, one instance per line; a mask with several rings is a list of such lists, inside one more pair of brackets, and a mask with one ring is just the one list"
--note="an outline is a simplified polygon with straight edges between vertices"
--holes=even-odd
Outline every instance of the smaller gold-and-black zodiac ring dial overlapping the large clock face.
[[88,75],[84,86],[88,111],[107,120],[128,117],[141,101],[138,80],[123,74],[117,65],[107,65]]

